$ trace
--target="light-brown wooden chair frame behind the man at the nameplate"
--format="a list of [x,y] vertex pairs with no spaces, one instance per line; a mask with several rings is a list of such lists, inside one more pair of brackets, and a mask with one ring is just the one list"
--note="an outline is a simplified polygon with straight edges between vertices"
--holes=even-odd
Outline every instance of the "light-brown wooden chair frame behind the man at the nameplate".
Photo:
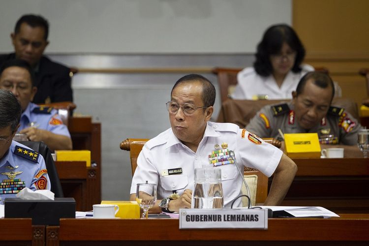
[[[264,138],[263,140],[276,146],[277,148],[281,147],[281,142],[277,139]],[[120,148],[122,150],[130,152],[129,154],[131,159],[132,176],[137,167],[137,157],[147,141],[149,141],[149,139],[127,138],[120,144]],[[248,167],[245,167],[244,170],[244,178],[246,178],[246,176],[256,176],[255,180],[257,181],[257,187],[253,205],[257,203],[263,203],[268,196],[268,177],[261,173],[259,170]]]

